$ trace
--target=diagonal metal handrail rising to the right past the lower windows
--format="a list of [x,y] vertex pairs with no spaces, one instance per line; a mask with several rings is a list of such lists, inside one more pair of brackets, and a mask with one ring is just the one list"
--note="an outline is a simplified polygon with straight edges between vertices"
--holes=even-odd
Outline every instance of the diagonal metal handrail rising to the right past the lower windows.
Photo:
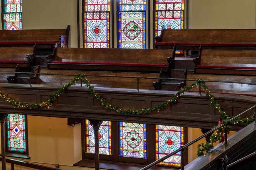
[[[243,114],[245,114],[245,113],[251,111],[251,110],[254,109],[254,108],[256,108],[256,104],[255,104],[253,107],[247,109],[246,111],[240,113],[239,115],[236,115],[235,117],[233,117],[233,118],[231,118],[231,119],[229,119],[229,120],[230,120],[230,121],[233,121],[233,120],[239,118],[241,115],[243,115]],[[256,116],[255,116],[255,118],[256,118]],[[255,119],[255,121],[256,121],[256,119]],[[256,123],[256,122],[255,122],[255,123]],[[174,152],[172,152],[172,153],[169,153],[168,155],[164,156],[163,158],[156,160],[155,162],[153,162],[153,163],[151,163],[151,164],[145,166],[144,168],[142,168],[142,169],[140,169],[140,170],[147,170],[147,169],[149,169],[149,168],[152,168],[153,166],[155,166],[155,165],[157,165],[158,163],[162,162],[163,160],[165,160],[165,159],[171,157],[172,155],[176,154],[177,152],[181,152],[181,158],[182,158],[182,159],[181,159],[181,163],[182,163],[182,164],[181,164],[181,170],[184,170],[184,149],[186,149],[188,146],[192,145],[193,143],[199,141],[199,140],[202,139],[203,137],[205,137],[205,136],[207,136],[207,135],[213,133],[215,130],[219,129],[221,126],[224,126],[224,125],[225,125],[225,124],[222,123],[221,125],[216,126],[216,127],[213,128],[212,130],[210,130],[210,131],[206,132],[205,134],[199,136],[198,138],[194,139],[193,141],[187,143],[187,144],[184,145],[184,146],[181,146],[181,147],[180,147],[179,149],[177,149],[176,151],[174,151]],[[227,136],[225,135],[225,137],[227,137]]]

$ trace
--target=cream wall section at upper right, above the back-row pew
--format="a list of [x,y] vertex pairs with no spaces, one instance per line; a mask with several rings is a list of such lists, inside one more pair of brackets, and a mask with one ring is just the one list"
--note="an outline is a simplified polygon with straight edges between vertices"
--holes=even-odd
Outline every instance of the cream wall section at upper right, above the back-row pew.
[[189,29],[256,28],[255,0],[189,0]]

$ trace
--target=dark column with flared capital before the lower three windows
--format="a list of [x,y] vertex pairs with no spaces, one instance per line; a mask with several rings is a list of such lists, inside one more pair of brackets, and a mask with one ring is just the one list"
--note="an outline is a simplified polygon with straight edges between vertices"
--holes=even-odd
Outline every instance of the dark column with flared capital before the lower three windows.
[[102,124],[102,120],[89,120],[94,130],[94,145],[95,145],[95,170],[100,169],[100,158],[99,158],[99,128]]

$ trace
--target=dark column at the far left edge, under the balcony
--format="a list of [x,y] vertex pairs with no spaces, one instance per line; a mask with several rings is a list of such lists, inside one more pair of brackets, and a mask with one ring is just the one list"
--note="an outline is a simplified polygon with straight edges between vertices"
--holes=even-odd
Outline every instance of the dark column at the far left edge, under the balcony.
[[0,114],[2,170],[6,170],[6,166],[5,166],[5,121],[6,121],[6,117],[7,117],[7,114]]

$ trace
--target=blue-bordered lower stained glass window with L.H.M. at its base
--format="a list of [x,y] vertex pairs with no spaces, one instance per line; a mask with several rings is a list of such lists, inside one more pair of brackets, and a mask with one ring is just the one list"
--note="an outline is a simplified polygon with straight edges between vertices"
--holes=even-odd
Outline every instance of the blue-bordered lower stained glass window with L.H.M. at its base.
[[120,122],[120,155],[147,158],[146,124]]

